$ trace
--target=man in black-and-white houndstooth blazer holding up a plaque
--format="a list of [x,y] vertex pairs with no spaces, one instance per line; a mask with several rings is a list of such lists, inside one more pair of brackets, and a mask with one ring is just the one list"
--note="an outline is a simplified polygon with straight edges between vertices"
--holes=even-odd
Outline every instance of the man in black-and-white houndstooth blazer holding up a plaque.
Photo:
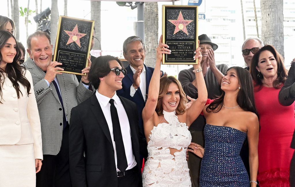
[[[23,66],[32,74],[42,131],[43,165],[36,176],[37,187],[70,187],[68,124],[71,110],[90,98],[94,87],[89,85],[88,76],[82,76],[79,83],[75,75],[56,71],[63,69],[56,67],[61,63],[51,62],[52,44],[46,32],[36,31],[30,35],[27,46],[30,58]],[[82,73],[88,72],[89,67],[82,70]]]

